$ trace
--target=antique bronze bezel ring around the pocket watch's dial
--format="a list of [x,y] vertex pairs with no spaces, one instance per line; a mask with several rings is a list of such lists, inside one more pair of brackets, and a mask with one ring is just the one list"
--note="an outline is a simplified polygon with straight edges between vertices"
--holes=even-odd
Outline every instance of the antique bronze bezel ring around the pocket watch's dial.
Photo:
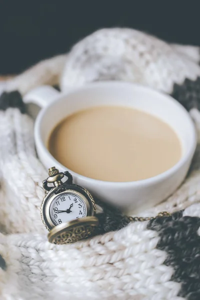
[[[59,192],[59,190],[61,191]],[[57,195],[61,195],[66,192],[77,194],[85,202],[86,209],[87,209],[86,216],[93,216],[95,214],[95,202],[91,194],[85,188],[82,188],[81,186],[78,186],[76,184],[70,184],[68,186],[64,186],[63,184],[61,186],[52,188],[52,190],[50,190],[44,196],[44,199],[41,203],[40,212],[41,212],[42,222],[48,230],[51,230],[53,227],[58,226],[55,225],[51,220],[50,212],[49,212],[50,205],[53,199]]]

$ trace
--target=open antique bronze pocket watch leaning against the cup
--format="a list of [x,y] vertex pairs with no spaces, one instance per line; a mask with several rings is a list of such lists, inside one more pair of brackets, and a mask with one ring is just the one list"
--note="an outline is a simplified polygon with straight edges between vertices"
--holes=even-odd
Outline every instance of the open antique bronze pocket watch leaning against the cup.
[[90,192],[72,183],[68,171],[59,172],[54,166],[48,169],[48,177],[42,183],[45,196],[40,211],[42,222],[49,230],[49,242],[71,243],[91,235],[98,219]]

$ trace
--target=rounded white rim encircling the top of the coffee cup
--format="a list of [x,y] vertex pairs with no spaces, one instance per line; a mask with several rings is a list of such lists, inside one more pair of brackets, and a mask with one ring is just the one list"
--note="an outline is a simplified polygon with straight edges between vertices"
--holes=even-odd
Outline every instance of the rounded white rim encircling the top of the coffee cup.
[[[194,154],[195,148],[196,148],[196,143],[197,143],[197,136],[196,136],[196,130],[195,130],[195,126],[194,123],[188,113],[188,111],[177,101],[175,100],[172,96],[165,94],[161,91],[155,90],[151,87],[148,86],[144,86],[142,84],[138,84],[138,83],[134,83],[134,82],[125,82],[125,81],[98,81],[98,82],[92,82],[89,84],[85,84],[79,87],[72,87],[69,92],[66,93],[66,96],[69,95],[70,93],[74,93],[76,91],[79,91],[81,89],[85,89],[85,88],[95,88],[95,87],[99,87],[100,85],[106,86],[106,85],[126,85],[126,86],[134,86],[134,87],[139,87],[141,89],[143,89],[144,91],[150,91],[151,93],[155,93],[157,95],[160,96],[164,96],[165,98],[168,98],[168,100],[170,100],[171,102],[173,102],[173,104],[175,104],[178,109],[182,110],[185,114],[185,118],[187,119],[187,122],[190,124],[191,127],[191,140],[192,142],[189,145],[188,150],[184,153],[184,155],[169,169],[167,169],[166,171],[157,174],[155,176],[149,177],[149,178],[145,178],[145,179],[140,179],[140,180],[135,180],[135,181],[106,181],[106,180],[99,180],[99,179],[94,179],[94,178],[90,178],[81,174],[78,174],[72,170],[70,170],[69,168],[67,168],[66,166],[64,166],[63,164],[61,164],[59,161],[57,161],[52,155],[51,153],[48,151],[48,149],[46,148],[45,144],[42,141],[41,138],[41,134],[40,134],[40,130],[39,130],[39,126],[41,123],[41,120],[43,118],[43,116],[45,115],[46,110],[50,107],[53,106],[55,104],[55,101],[57,101],[59,98],[62,98],[65,95],[65,92],[60,92],[60,94],[58,94],[58,96],[55,98],[55,100],[53,100],[52,102],[49,102],[49,104],[44,107],[41,108],[41,110],[39,111],[36,120],[35,120],[35,124],[34,124],[34,139],[35,139],[35,145],[36,147],[38,147],[38,145],[42,148],[42,151],[45,153],[46,156],[48,156],[53,163],[55,163],[55,165],[58,165],[58,167],[60,167],[61,169],[67,169],[72,176],[75,175],[76,177],[79,177],[80,179],[84,180],[84,181],[90,181],[96,184],[103,184],[105,186],[117,186],[117,187],[123,187],[123,186],[129,186],[129,185],[135,185],[135,186],[142,186],[142,185],[150,185],[151,183],[155,183],[155,182],[159,182],[164,180],[165,178],[171,176],[173,173],[175,173],[184,163],[186,163],[186,161]],[[61,99],[60,99],[61,100]]]

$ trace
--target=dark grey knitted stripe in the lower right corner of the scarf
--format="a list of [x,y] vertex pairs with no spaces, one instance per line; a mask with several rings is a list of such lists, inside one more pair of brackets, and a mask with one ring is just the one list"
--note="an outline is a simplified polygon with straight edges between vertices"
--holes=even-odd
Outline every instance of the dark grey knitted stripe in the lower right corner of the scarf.
[[182,211],[168,217],[156,217],[147,228],[160,236],[156,248],[167,253],[164,264],[172,266],[171,280],[180,282],[178,296],[200,299],[200,226],[199,217],[182,216]]

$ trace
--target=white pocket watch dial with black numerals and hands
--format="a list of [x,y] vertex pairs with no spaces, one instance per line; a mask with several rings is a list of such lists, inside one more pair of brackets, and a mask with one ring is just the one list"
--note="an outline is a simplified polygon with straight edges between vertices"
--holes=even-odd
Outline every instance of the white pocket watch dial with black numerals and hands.
[[53,198],[49,214],[54,225],[68,222],[87,215],[85,201],[72,192],[65,192]]

